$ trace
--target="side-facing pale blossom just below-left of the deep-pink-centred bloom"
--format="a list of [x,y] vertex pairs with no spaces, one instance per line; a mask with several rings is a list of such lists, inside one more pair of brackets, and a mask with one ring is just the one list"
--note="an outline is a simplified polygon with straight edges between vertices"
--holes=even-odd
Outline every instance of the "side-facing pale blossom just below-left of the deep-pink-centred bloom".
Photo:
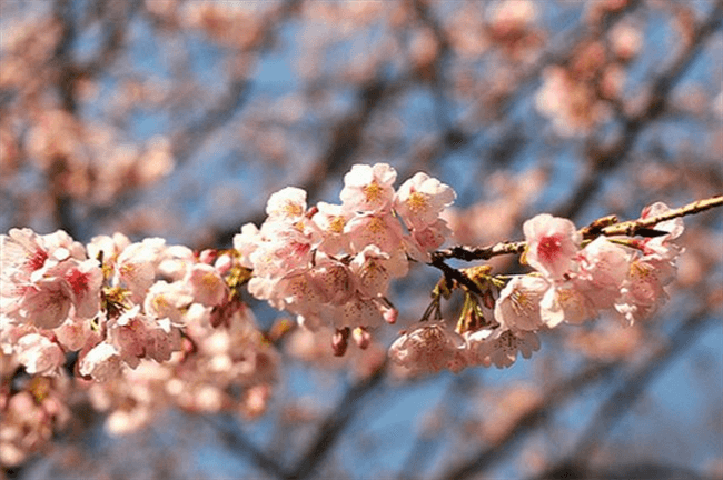
[[515,332],[538,330],[543,326],[539,302],[548,288],[541,277],[515,276],[499,292],[495,320]]

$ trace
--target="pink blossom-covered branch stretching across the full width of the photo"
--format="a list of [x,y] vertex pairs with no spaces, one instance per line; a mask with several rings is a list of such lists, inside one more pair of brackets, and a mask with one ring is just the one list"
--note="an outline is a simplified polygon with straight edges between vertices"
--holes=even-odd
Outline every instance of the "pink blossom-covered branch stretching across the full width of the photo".
[[[418,373],[507,367],[539,348],[538,332],[562,323],[603,312],[625,326],[650,318],[675,274],[682,217],[723,204],[720,196],[679,209],[657,202],[637,220],[611,216],[583,229],[543,213],[524,223],[524,241],[438,250],[450,233],[442,213],[454,190],[423,172],[395,189],[396,177],[386,163],[355,166],[340,204],[309,207],[304,190],[285,188],[269,198],[264,223],[244,226],[229,250],[195,252],[121,233],[83,246],[63,231],[12,229],[0,236],[3,372],[23,370],[59,391],[68,367],[97,408],[112,411],[116,431],[145,424],[161,403],[231,408],[232,391],[246,414],[258,414],[278,360],[275,333],[258,330],[245,291],[305,328],[331,327],[331,348],[343,356],[349,340],[365,349],[376,330],[395,323],[387,292],[412,263],[436,267],[443,278],[422,321],[392,344],[392,360]],[[533,271],[445,263],[505,253],[522,254]],[[442,301],[455,291],[464,302],[447,322]],[[77,359],[66,366],[71,352]],[[22,409],[26,397],[3,402]],[[3,451],[22,456],[19,438],[6,437]]]

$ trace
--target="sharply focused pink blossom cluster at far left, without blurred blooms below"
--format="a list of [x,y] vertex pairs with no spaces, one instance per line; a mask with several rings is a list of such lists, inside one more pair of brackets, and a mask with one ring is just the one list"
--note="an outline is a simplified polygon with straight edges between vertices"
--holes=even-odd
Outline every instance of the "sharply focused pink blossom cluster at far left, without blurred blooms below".
[[30,229],[1,236],[0,248],[0,348],[30,374],[57,376],[78,351],[79,377],[109,380],[143,359],[170,360],[191,318],[216,327],[242,307],[229,289],[242,270],[232,252],[120,233],[85,248],[63,231]]

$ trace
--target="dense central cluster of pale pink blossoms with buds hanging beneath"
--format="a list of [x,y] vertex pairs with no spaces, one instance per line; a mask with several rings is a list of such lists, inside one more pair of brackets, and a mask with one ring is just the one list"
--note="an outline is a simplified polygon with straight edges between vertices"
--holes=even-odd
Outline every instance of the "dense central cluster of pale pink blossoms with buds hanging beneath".
[[385,297],[390,280],[407,273],[410,258],[429,261],[449,233],[439,214],[454,190],[419,172],[395,192],[396,177],[386,163],[354,166],[341,204],[307,208],[306,192],[293,187],[274,193],[260,229],[249,223],[234,238],[252,269],[249,292],[305,327],[336,327],[339,354],[350,330],[367,344],[367,329],[396,319]]

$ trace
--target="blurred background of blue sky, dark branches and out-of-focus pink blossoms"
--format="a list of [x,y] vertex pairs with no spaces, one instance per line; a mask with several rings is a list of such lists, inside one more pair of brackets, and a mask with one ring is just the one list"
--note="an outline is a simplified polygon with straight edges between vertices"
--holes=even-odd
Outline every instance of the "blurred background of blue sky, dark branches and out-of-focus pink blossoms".
[[[120,231],[229,247],[286,186],[338,202],[355,163],[450,184],[454,243],[522,238],[723,191],[723,2],[707,0],[0,3],[0,230]],[[264,411],[110,434],[79,401],[2,476],[723,478],[723,222],[686,218],[650,321],[542,338],[513,368],[409,378],[384,363],[438,272],[394,287],[367,351],[290,332]],[[514,259],[495,263],[514,271]],[[252,302],[263,329],[283,314]],[[452,312],[449,313],[452,317]],[[81,393],[79,393],[81,394]]]

